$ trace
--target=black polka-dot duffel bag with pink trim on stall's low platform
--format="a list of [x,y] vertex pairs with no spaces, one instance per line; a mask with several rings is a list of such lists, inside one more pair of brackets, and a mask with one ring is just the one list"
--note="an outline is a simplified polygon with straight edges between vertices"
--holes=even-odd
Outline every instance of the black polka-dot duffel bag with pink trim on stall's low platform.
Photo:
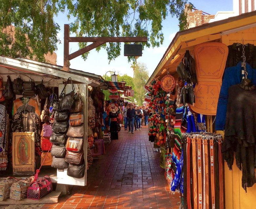
[[52,182],[49,176],[36,179],[28,188],[28,199],[39,200],[52,192]]

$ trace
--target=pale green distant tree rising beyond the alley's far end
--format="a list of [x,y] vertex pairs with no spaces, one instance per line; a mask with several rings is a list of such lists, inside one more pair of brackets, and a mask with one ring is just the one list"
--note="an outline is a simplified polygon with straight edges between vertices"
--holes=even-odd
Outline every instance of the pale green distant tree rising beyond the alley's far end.
[[139,105],[142,105],[147,90],[144,88],[148,81],[148,69],[144,63],[137,63],[134,69],[134,96]]

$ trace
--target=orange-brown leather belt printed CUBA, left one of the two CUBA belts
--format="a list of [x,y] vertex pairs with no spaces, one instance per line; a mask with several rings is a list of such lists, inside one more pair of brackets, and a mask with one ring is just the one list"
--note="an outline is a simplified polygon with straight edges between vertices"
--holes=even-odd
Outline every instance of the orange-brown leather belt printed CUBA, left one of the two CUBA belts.
[[202,139],[197,139],[197,172],[198,172],[198,208],[202,209],[203,206],[203,195],[202,195],[202,157],[201,157],[201,146],[202,146]]

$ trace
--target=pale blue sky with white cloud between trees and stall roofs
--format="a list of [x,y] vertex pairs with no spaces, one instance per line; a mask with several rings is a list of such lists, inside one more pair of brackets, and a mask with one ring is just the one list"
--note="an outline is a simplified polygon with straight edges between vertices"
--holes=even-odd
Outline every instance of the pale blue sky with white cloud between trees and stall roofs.
[[[216,14],[217,11],[232,11],[233,0],[190,0],[195,8],[203,10],[209,14]],[[61,40],[61,44],[58,45],[57,53],[57,64],[63,65],[63,38],[64,38],[64,24],[71,23],[72,20],[68,20],[66,14],[59,14],[55,17],[55,21],[60,25],[61,30],[59,31],[58,37]],[[174,17],[167,17],[163,21],[163,34],[164,42],[158,48],[145,48],[143,55],[138,58],[138,62],[143,62],[147,65],[149,76],[155,70],[160,59],[164,55],[168,45],[173,39],[176,32],[179,30],[178,20]],[[72,34],[71,34],[72,36]],[[122,45],[121,55],[115,60],[112,60],[108,64],[107,52],[102,49],[99,53],[96,50],[90,51],[88,59],[84,61],[81,56],[76,57],[70,61],[70,68],[82,70],[85,72],[92,72],[98,75],[105,75],[107,71],[116,71],[119,74],[128,74],[133,76],[132,69],[130,68],[131,63],[128,63],[127,57],[123,56],[124,47]],[[77,43],[69,43],[70,53],[75,52],[79,49]],[[109,75],[110,73],[108,73]]]

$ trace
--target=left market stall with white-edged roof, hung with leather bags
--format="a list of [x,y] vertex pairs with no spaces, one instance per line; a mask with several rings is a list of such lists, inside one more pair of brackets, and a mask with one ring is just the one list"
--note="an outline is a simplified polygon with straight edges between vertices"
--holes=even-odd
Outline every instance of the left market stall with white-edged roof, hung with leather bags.
[[0,85],[0,204],[57,202],[54,183],[86,185],[88,88],[100,82],[0,56]]

